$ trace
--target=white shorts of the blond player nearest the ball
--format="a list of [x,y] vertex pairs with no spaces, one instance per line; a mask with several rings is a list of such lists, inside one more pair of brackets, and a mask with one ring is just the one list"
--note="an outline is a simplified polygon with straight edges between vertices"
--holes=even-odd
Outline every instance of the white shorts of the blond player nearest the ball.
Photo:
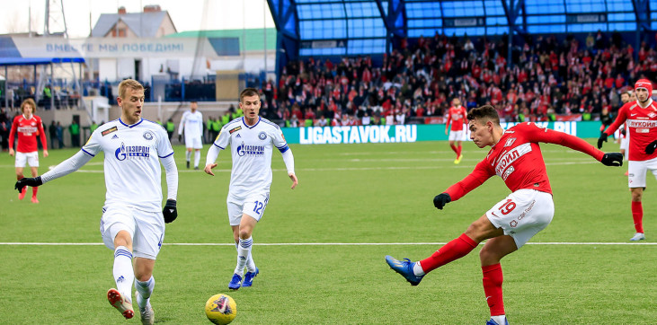
[[102,206],[102,242],[110,250],[114,250],[114,238],[121,230],[130,233],[134,257],[155,259],[164,241],[164,216],[127,206]]

